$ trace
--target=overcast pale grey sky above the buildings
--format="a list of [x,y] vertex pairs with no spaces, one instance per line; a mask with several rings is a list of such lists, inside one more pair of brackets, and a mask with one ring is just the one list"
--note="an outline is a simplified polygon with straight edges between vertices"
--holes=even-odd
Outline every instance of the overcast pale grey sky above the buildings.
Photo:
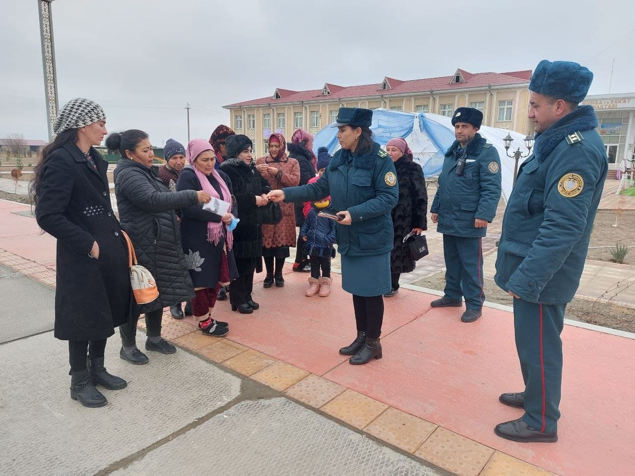
[[[0,0],[0,137],[46,140],[38,0]],[[590,4],[590,6],[589,6]],[[209,138],[223,105],[320,89],[583,63],[591,94],[635,92],[632,0],[55,0],[60,107],[100,103],[110,131]],[[630,32],[630,34],[629,34]]]

